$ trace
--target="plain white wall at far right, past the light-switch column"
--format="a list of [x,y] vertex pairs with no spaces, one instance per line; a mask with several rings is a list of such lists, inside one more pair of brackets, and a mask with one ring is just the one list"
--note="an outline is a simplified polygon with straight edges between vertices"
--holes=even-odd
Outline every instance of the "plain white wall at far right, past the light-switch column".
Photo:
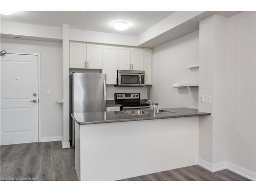
[[255,12],[228,18],[228,154],[230,163],[256,173]]

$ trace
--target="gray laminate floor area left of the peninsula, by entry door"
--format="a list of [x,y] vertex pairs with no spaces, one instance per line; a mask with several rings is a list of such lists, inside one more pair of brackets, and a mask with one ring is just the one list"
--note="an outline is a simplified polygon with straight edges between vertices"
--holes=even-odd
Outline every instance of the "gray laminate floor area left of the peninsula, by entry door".
[[1,146],[1,180],[77,181],[74,152],[61,141]]

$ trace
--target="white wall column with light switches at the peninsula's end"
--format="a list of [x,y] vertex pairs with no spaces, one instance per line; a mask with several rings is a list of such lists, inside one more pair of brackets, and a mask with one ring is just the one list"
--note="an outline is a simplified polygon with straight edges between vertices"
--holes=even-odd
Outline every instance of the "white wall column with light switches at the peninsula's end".
[[[199,159],[211,164],[226,161],[227,130],[227,18],[212,15],[200,22]],[[207,102],[207,96],[211,101]],[[200,99],[199,99],[200,100]],[[223,163],[225,164],[225,163]]]

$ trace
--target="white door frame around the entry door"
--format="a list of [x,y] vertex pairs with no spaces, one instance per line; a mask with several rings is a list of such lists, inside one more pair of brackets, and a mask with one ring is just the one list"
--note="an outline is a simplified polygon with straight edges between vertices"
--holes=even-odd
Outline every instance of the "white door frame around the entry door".
[[[41,56],[40,53],[24,53],[24,52],[14,52],[14,51],[8,51],[6,54],[13,54],[13,55],[35,55],[37,56],[37,77],[38,77],[38,82],[37,82],[37,93],[38,93],[38,111],[37,111],[37,116],[38,116],[38,138],[37,142],[41,142]],[[0,68],[0,79],[1,79],[1,68]],[[1,96],[1,84],[0,84],[0,96]],[[0,109],[1,109],[1,102],[0,102]],[[1,110],[0,110],[0,116],[1,116]],[[1,122],[1,118],[0,118]]]

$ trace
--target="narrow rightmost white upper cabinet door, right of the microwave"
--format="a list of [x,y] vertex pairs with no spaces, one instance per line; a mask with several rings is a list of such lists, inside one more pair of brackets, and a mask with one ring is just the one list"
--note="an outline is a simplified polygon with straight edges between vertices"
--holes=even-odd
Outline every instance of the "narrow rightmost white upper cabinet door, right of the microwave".
[[145,70],[145,84],[152,84],[152,50],[144,49],[143,50],[143,61],[144,61],[144,70]]

